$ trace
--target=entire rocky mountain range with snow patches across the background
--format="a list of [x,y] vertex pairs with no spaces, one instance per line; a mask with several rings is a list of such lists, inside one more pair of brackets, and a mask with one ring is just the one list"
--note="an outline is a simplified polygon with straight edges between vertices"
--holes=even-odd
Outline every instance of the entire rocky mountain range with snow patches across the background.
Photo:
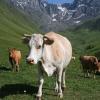
[[47,0],[8,0],[27,13],[41,30],[61,31],[100,15],[100,0],[74,0],[72,4],[49,4]]

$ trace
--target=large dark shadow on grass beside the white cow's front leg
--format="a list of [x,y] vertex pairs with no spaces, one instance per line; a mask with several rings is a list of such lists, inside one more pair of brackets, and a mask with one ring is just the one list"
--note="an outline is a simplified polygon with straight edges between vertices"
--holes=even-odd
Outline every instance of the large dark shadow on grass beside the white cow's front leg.
[[0,88],[0,98],[16,94],[34,95],[37,93],[37,91],[37,86],[31,86],[27,84],[7,84]]

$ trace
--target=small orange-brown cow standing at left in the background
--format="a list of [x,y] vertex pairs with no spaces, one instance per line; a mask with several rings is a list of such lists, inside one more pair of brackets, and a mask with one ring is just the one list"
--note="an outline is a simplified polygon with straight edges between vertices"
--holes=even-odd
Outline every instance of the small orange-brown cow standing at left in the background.
[[13,71],[19,71],[19,63],[21,60],[21,52],[15,48],[9,49],[9,62]]

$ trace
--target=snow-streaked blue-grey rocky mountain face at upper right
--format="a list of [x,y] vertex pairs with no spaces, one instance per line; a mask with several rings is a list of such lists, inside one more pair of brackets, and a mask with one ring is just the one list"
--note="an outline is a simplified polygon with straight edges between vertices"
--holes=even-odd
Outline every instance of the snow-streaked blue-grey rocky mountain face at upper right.
[[45,8],[54,22],[76,26],[100,15],[100,0],[74,0],[72,4],[47,4]]

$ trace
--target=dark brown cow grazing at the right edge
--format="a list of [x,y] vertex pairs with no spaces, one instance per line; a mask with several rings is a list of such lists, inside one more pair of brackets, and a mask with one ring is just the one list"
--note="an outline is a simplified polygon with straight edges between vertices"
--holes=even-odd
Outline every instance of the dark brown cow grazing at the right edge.
[[80,56],[80,61],[83,67],[83,72],[85,77],[89,76],[89,73],[93,73],[95,78],[95,73],[100,71],[100,63],[95,56]]

